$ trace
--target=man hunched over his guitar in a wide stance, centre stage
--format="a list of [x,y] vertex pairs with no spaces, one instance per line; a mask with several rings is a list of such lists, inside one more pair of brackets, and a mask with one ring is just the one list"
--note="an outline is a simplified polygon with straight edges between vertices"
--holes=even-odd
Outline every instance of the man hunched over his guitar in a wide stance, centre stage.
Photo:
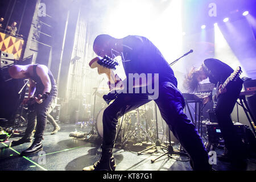
[[[205,146],[197,133],[195,125],[183,113],[185,105],[181,92],[177,89],[177,80],[170,65],[164,59],[159,49],[143,36],[129,35],[122,39],[113,38],[110,35],[98,35],[93,44],[94,52],[101,57],[105,55],[114,58],[122,57],[122,65],[126,73],[126,82],[129,82],[129,73],[157,73],[152,79],[143,82],[139,78],[134,78],[133,86],[141,87],[159,85],[158,97],[154,101],[159,107],[163,119],[179,140],[181,145],[188,152],[194,170],[210,170],[208,154]],[[123,89],[127,89],[122,87]],[[106,107],[103,115],[103,139],[102,154],[100,160],[93,166],[85,167],[84,171],[90,170],[114,170],[115,162],[112,154],[116,126],[118,118],[127,112],[137,109],[139,106],[151,101],[150,93],[130,93],[123,92]],[[151,95],[150,95],[151,96]]]

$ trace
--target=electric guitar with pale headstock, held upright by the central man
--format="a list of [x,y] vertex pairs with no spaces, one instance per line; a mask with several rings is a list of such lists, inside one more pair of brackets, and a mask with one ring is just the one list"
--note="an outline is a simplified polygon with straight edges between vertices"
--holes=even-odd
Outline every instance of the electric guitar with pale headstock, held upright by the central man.
[[[110,84],[116,85],[119,81],[122,81],[114,72],[113,69],[118,65],[117,61],[112,60],[108,56],[95,57],[89,63],[90,68],[97,68],[98,74],[106,74],[109,78],[109,86]],[[109,93],[103,96],[103,99],[109,104],[110,101],[114,100],[117,97],[117,93]]]

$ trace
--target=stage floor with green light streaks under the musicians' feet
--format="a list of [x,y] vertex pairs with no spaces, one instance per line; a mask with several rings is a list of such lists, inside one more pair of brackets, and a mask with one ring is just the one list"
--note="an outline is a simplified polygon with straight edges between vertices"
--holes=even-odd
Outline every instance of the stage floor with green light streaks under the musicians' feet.
[[[100,158],[100,140],[88,141],[69,137],[75,131],[72,124],[60,123],[61,130],[51,135],[52,127],[47,125],[43,140],[43,151],[38,153],[20,156],[20,152],[28,148],[31,143],[20,144],[9,147],[11,140],[18,140],[18,137],[9,138],[7,142],[0,143],[0,171],[81,171],[85,166],[90,166]],[[116,171],[191,171],[187,158],[172,155],[162,156],[162,158],[151,163],[163,154],[166,149],[159,148],[156,152],[148,151],[138,155],[148,146],[127,146],[124,148],[115,147],[113,155],[117,163]],[[174,146],[176,149],[177,146]],[[222,154],[223,150],[217,149],[217,154]],[[40,155],[40,156],[39,156]],[[180,161],[185,160],[185,161]],[[256,160],[247,159],[247,171],[255,171]],[[213,165],[216,171],[229,171],[230,164],[217,160]]]

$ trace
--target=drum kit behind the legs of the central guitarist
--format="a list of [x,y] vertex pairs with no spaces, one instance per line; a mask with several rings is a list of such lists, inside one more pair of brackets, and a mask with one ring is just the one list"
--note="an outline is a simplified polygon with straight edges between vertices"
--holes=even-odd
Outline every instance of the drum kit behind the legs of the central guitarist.
[[[94,105],[86,105],[84,111],[86,113],[86,120],[83,128],[91,131],[88,134],[84,134],[86,140],[89,139],[102,139],[103,138],[103,124],[102,118],[104,110],[108,105],[104,105],[101,102],[96,102],[96,96],[101,97],[106,92],[105,88],[93,88],[94,89]],[[105,91],[105,92],[104,92]],[[116,142],[122,146],[129,142],[142,143],[151,142],[156,140],[156,119],[154,118],[154,111],[151,108],[151,102],[136,110],[126,113],[118,119],[117,131],[118,136]],[[97,109],[97,108],[101,109]],[[88,118],[89,117],[89,118]],[[84,133],[83,131],[81,131]]]

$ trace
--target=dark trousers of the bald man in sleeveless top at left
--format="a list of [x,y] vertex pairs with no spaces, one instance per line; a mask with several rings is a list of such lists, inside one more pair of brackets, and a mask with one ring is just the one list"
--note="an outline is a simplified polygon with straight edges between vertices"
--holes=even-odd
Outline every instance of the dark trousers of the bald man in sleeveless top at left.
[[51,113],[54,101],[57,97],[57,88],[53,87],[46,100],[41,104],[35,104],[33,110],[28,111],[28,122],[27,129],[25,131],[24,137],[31,137],[32,131],[35,131],[34,138],[42,138],[44,135],[44,130],[46,129],[47,115]]

